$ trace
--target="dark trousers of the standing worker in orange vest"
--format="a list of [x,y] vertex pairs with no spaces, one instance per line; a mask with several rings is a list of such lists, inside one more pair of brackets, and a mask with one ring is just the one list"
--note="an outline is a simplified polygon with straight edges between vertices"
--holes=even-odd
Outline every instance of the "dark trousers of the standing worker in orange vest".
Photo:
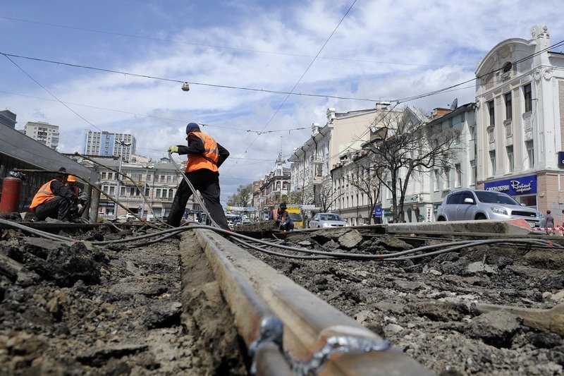
[[[202,194],[204,204],[207,210],[209,210],[212,219],[214,219],[221,229],[228,230],[227,218],[225,217],[225,212],[223,212],[221,202],[219,202],[219,174],[208,169],[200,169],[186,173],[186,177],[190,180],[192,186]],[[191,195],[192,190],[190,190],[188,183],[183,179],[180,186],[178,186],[178,190],[176,190],[176,195],[172,202],[171,214],[168,214],[168,224],[180,226],[180,219],[182,219],[184,211],[186,210],[186,203]]]

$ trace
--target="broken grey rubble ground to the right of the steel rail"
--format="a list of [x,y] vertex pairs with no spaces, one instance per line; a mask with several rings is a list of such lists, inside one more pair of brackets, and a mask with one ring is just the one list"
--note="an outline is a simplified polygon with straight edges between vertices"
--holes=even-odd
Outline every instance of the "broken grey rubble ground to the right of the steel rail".
[[[412,248],[390,236],[350,240],[296,233],[286,244],[360,253]],[[527,308],[563,303],[563,250],[479,246],[415,263],[252,253],[438,374],[563,374],[558,334],[527,327],[510,313],[481,314],[475,308],[476,303]]]

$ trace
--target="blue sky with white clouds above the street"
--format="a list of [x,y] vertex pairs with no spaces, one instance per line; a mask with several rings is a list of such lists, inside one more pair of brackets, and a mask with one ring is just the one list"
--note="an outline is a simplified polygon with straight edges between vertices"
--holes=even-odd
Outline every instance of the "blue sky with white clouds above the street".
[[[548,25],[551,44],[564,40],[558,0],[2,5],[0,53],[59,62],[0,55],[0,109],[17,114],[16,128],[58,125],[60,152],[82,152],[85,129],[132,133],[137,154],[159,158],[183,145],[187,123],[206,124],[231,152],[220,169],[223,202],[271,171],[280,150],[290,157],[312,123],[325,125],[328,107],[371,109],[470,80],[491,48],[528,39],[534,25]],[[473,102],[473,83],[400,106],[431,111],[455,98]]]

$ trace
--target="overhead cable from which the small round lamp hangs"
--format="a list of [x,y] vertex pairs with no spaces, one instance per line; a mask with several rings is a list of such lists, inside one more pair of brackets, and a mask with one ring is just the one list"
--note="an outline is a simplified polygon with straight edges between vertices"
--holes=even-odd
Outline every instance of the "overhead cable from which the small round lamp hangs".
[[337,95],[310,94],[310,93],[305,93],[305,92],[285,92],[285,91],[281,91],[281,90],[259,89],[257,87],[219,85],[219,84],[213,84],[213,83],[197,83],[195,81],[176,80],[176,79],[173,79],[173,78],[164,78],[164,77],[158,77],[158,76],[154,76],[154,75],[145,75],[145,74],[139,74],[139,73],[124,72],[124,71],[114,71],[113,69],[97,68],[97,67],[94,67],[94,66],[84,66],[84,65],[81,65],[81,64],[64,63],[63,61],[54,61],[54,60],[48,60],[48,59],[39,59],[39,58],[35,58],[35,57],[30,57],[30,56],[8,54],[8,53],[2,52],[2,51],[0,51],[0,54],[4,55],[6,57],[11,56],[11,57],[15,57],[15,58],[18,58],[18,59],[42,61],[44,63],[57,64],[57,65],[62,65],[62,66],[72,66],[74,68],[84,68],[84,69],[90,69],[92,71],[100,71],[100,72],[106,72],[106,73],[116,73],[116,74],[121,74],[121,75],[130,75],[132,77],[137,77],[137,78],[149,78],[149,79],[152,79],[152,80],[161,80],[161,81],[166,81],[166,82],[169,82],[169,83],[182,83],[182,84],[183,83],[189,83],[190,85],[219,87],[221,89],[247,90],[247,91],[252,91],[252,92],[267,92],[269,94],[276,94],[276,95],[301,95],[301,96],[305,96],[305,97],[321,97],[321,98],[332,98],[332,99],[357,100],[357,101],[364,101],[364,102],[378,102],[380,100],[380,99],[371,99],[371,98],[339,97]]

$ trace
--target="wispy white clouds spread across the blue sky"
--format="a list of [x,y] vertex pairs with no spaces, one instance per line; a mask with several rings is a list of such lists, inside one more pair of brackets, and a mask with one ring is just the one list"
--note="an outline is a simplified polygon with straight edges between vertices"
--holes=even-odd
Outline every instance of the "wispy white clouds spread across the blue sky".
[[[95,42],[96,48],[90,51],[90,55],[77,51],[73,62],[90,65],[90,57],[95,56],[95,61],[103,59],[103,63],[92,65],[118,71],[190,82],[288,91],[312,61],[307,56],[317,54],[350,1],[316,0],[292,4],[291,8],[288,3],[274,10],[270,8],[268,12],[261,11],[259,5],[242,6],[239,2],[223,5],[224,11],[233,13],[231,23],[208,27],[183,23],[186,25],[184,28],[178,28],[175,18],[167,10],[152,5],[155,18],[162,22],[154,31],[154,37],[281,54],[107,37]],[[556,0],[541,1],[534,7],[527,1],[359,1],[320,54],[321,57],[334,59],[317,59],[295,91],[396,99],[453,85],[472,78],[476,61],[501,40],[507,37],[527,38],[532,25],[548,23],[553,42],[564,39],[560,8],[560,2]],[[197,11],[196,6],[190,6],[183,9],[182,14],[197,16],[194,14]],[[135,54],[130,56],[131,59],[118,53],[125,44],[128,49],[135,44]],[[56,45],[53,48],[56,51]],[[32,49],[23,51],[23,55],[35,56]],[[60,56],[68,55],[61,51]],[[49,57],[52,59],[53,56],[56,52]],[[10,72],[10,81],[6,78],[3,90],[49,98],[37,85],[27,82],[25,77],[21,78],[21,73],[13,67],[4,66]],[[231,157],[222,167],[224,171],[243,154],[243,158],[223,177],[224,195],[233,193],[241,182],[260,178],[272,166],[272,162],[245,158],[274,161],[281,147],[281,135],[283,153],[290,154],[293,147],[300,145],[310,134],[309,129],[291,131],[290,134],[265,133],[247,150],[256,135],[246,130],[264,128],[283,102],[284,95],[202,85],[191,85],[190,92],[183,92],[180,83],[46,63],[23,63],[22,66],[38,80],[42,78],[42,83],[63,102],[173,119],[69,104],[99,128],[130,130],[137,138],[140,154],[153,157],[166,154],[168,145],[184,141],[183,129],[189,121],[243,130],[204,128],[231,152]],[[53,80],[49,81],[49,76]],[[7,85],[17,78],[21,78],[25,85]],[[459,98],[459,103],[471,102],[472,83],[463,85],[467,86],[470,88],[459,88],[410,104],[431,110],[445,107],[455,97]],[[92,128],[59,102],[0,93],[0,104],[18,114],[20,126],[25,121],[35,120],[61,126],[63,152],[76,150],[82,142],[84,128]],[[309,128],[314,122],[324,124],[327,107],[350,111],[373,105],[371,102],[345,99],[290,96],[265,131]]]

